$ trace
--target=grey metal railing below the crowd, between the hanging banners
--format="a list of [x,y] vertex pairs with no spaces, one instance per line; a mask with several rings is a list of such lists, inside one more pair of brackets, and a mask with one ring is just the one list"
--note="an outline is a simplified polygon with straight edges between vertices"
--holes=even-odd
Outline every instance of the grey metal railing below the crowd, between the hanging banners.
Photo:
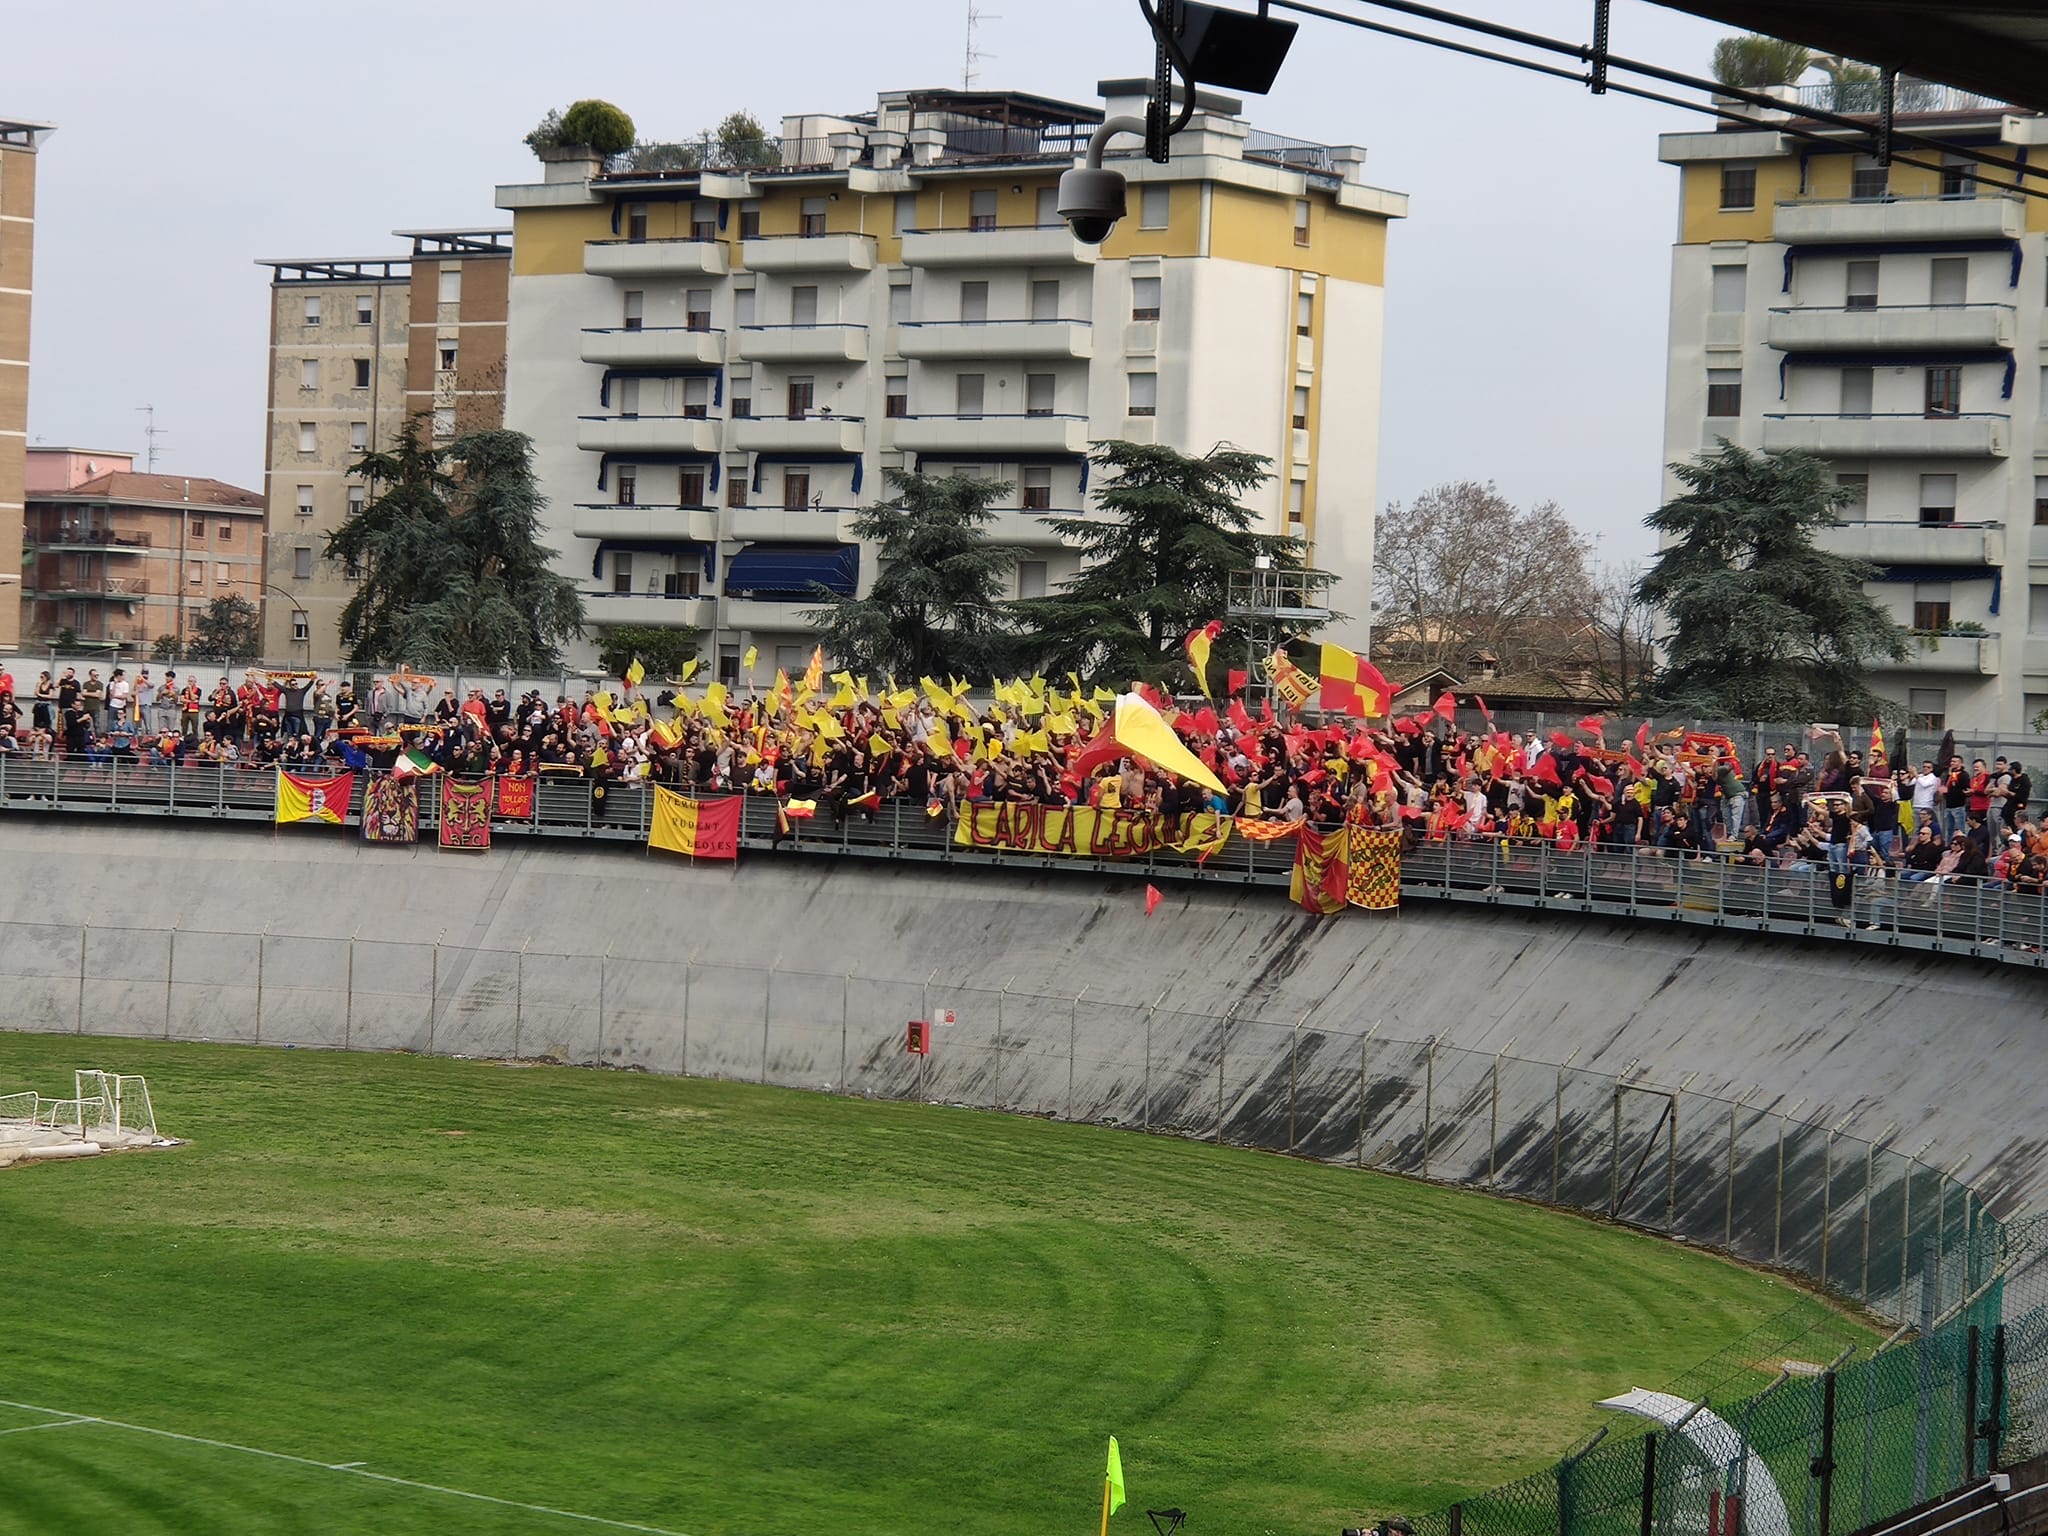
[[[358,774],[356,815],[367,778]],[[582,776],[541,774],[532,815],[498,821],[494,831],[645,844],[653,793],[643,782],[608,788],[600,807]],[[0,815],[174,815],[268,823],[274,795],[274,776],[256,768],[176,768],[106,754],[86,760],[0,758]],[[760,854],[1120,872],[1243,887],[1286,887],[1294,868],[1286,840],[1231,838],[1206,860],[1171,850],[1098,858],[961,846],[948,817],[930,817],[924,805],[903,801],[887,801],[872,817],[854,813],[840,821],[829,815],[795,821],[784,838],[770,797],[743,799],[739,844]],[[420,793],[422,829],[438,825],[438,780],[428,778]],[[1544,840],[1487,838],[1425,842],[1411,850],[1401,864],[1401,891],[1409,899],[1681,922],[2048,969],[2048,901],[1980,879],[1858,879],[1847,903],[1837,905],[1825,860],[1774,868],[1724,856],[1679,858],[1640,848],[1559,850]]]

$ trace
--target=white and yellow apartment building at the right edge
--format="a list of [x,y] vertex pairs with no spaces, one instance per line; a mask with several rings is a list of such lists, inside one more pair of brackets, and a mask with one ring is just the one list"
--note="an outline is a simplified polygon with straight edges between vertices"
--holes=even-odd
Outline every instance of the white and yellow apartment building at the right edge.
[[[1659,141],[1679,168],[1665,461],[1720,438],[1825,459],[1853,496],[1821,543],[1872,561],[1913,629],[1872,686],[1915,729],[2019,735],[2048,709],[2048,203],[1958,154],[1882,166],[1784,131],[1802,104],[1868,104],[1837,90]],[[1946,86],[1903,82],[1898,106],[2011,168],[2048,145],[2048,119]]]

